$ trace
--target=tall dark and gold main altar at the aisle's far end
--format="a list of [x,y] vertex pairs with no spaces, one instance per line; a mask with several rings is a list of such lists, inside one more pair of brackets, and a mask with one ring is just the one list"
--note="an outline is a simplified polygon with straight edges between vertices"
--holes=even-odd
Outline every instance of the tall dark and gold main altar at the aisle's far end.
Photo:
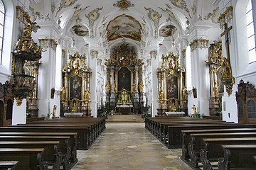
[[142,65],[135,47],[121,44],[113,47],[107,60],[106,100],[109,108],[120,114],[141,114],[144,84]]

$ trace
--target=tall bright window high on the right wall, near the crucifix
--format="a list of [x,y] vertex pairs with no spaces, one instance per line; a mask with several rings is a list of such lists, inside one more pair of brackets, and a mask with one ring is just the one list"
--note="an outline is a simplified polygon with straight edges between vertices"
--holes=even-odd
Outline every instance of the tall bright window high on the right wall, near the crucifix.
[[249,62],[256,61],[255,51],[255,30],[252,15],[252,1],[248,1],[246,6],[246,30],[247,30],[247,47],[249,52]]

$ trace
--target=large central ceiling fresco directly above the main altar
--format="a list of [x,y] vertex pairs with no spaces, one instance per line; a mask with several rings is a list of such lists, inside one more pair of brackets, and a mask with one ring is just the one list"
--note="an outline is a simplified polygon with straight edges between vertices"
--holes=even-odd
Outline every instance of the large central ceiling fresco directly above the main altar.
[[142,40],[142,26],[132,16],[123,14],[117,16],[107,26],[107,40],[112,41],[117,38],[130,38],[132,40]]

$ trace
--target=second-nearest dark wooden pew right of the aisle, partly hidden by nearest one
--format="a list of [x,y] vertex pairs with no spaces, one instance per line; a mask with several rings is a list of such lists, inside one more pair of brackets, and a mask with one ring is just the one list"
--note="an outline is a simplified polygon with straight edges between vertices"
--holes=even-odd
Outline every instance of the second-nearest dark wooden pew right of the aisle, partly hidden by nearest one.
[[201,149],[200,156],[203,169],[213,169],[213,164],[210,162],[218,162],[218,158],[223,156],[224,152],[221,145],[256,144],[256,137],[206,138],[203,140],[205,147]]

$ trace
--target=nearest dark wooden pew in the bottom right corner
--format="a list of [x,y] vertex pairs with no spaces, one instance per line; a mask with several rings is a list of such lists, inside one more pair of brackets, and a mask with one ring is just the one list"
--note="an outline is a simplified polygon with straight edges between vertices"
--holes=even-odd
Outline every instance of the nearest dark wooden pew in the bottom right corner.
[[219,170],[256,169],[253,156],[256,145],[222,145],[224,156],[218,159]]

